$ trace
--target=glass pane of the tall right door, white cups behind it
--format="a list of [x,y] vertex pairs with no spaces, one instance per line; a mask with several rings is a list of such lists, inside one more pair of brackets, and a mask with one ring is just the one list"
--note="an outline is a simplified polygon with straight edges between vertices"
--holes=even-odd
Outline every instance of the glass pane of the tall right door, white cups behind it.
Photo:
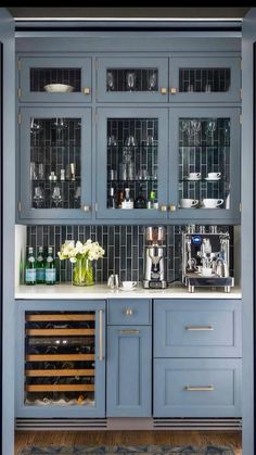
[[230,118],[179,118],[182,208],[230,208]]

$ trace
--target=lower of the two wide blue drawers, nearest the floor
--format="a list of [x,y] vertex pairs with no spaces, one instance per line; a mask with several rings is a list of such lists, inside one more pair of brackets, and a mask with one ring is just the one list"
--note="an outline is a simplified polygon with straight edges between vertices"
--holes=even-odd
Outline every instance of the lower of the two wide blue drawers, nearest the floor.
[[156,358],[155,417],[240,417],[241,359]]

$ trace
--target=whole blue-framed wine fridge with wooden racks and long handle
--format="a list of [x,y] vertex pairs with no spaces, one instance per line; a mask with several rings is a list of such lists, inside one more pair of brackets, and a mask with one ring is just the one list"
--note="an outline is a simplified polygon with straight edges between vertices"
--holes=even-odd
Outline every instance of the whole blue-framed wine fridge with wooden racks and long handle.
[[105,416],[105,302],[16,301],[16,417]]

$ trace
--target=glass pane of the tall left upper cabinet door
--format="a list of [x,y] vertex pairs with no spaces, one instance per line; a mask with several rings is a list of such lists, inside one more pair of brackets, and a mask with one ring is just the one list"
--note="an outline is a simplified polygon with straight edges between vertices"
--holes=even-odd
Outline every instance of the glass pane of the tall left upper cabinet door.
[[30,118],[33,208],[80,207],[81,118]]

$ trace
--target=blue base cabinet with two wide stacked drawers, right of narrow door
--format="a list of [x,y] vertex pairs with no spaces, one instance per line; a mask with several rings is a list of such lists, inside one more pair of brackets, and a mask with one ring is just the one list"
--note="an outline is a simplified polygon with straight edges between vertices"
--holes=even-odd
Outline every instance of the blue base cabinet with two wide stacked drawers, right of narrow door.
[[154,417],[241,417],[241,304],[154,300]]

